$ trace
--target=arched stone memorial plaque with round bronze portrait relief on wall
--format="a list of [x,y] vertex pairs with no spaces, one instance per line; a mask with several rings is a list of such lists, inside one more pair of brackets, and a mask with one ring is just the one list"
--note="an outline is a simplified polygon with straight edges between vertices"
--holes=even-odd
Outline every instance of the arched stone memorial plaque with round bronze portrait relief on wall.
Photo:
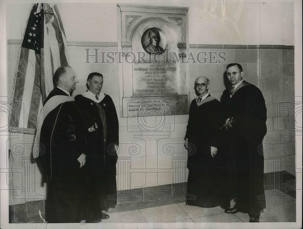
[[188,8],[118,8],[121,117],[188,114]]

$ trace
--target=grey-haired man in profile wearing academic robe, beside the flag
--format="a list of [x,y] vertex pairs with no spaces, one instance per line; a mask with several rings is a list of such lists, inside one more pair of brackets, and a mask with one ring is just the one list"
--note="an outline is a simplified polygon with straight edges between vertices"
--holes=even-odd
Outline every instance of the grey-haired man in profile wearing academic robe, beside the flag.
[[80,223],[86,217],[86,137],[83,116],[70,95],[78,82],[75,71],[59,67],[57,86],[41,111],[34,158],[39,156],[47,177],[45,220],[48,223]]

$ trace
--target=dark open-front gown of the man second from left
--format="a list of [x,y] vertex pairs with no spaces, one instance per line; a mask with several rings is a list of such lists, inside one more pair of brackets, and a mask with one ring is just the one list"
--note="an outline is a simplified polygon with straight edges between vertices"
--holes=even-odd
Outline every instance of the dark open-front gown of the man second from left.
[[[85,92],[83,93],[85,95]],[[86,120],[86,128],[97,123],[96,132],[89,132],[89,154],[93,155],[91,174],[98,180],[99,197],[103,210],[113,208],[117,204],[116,163],[117,153],[115,144],[119,145],[118,116],[112,98],[109,95],[98,102],[83,95],[77,95],[75,101]]]

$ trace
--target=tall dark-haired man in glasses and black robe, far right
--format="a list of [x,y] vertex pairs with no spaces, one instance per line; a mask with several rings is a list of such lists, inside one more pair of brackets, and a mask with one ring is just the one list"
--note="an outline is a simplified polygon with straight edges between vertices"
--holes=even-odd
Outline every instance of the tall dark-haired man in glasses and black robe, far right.
[[259,88],[243,80],[240,64],[227,65],[229,86],[221,97],[225,111],[223,129],[229,145],[230,158],[234,163],[236,204],[225,209],[226,213],[239,211],[248,213],[250,222],[259,222],[261,210],[265,206],[264,156],[262,139],[266,134],[266,106]]

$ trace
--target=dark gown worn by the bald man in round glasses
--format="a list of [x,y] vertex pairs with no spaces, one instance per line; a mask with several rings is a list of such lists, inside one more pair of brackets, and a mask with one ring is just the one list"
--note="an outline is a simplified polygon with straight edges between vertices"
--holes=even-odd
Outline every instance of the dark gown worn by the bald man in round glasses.
[[[191,102],[185,138],[188,138],[188,181],[186,204],[199,207],[229,207],[227,195],[221,192],[224,185],[222,163],[224,155],[220,151],[219,128],[224,122],[218,100],[208,95],[197,104]],[[218,148],[211,157],[211,146]]]

